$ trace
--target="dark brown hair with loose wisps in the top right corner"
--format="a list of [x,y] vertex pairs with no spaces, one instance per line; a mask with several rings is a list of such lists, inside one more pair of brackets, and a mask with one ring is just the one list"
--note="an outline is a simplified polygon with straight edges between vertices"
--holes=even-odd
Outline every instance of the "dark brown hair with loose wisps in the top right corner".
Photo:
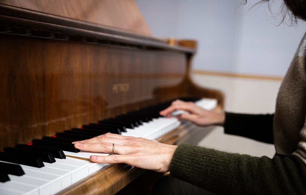
[[[257,2],[254,6],[266,2],[268,4],[268,8],[271,10],[272,2],[274,0],[261,0]],[[297,24],[298,19],[306,21],[306,0],[283,0],[284,3],[280,8],[279,13],[276,14],[282,15],[282,22],[292,26]],[[243,1],[243,4],[246,4],[247,0]],[[252,6],[252,7],[254,7]],[[288,18],[288,20],[287,20]]]

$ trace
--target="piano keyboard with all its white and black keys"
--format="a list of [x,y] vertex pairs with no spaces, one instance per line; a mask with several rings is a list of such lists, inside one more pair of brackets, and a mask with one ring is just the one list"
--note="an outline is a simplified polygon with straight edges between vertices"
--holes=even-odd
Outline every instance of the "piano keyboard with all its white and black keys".
[[[207,110],[212,110],[213,108],[217,106],[217,101],[215,99],[201,99],[201,100],[196,101],[196,104]],[[159,108],[159,110],[162,110],[162,109],[163,108]],[[182,113],[181,111],[175,111],[175,112],[176,113],[174,114],[176,115]],[[134,113],[134,116],[135,115],[137,114]],[[109,121],[109,123],[107,123],[108,125],[106,126],[108,127],[108,129],[112,130],[111,131],[112,133],[116,131],[118,133],[121,133],[121,135],[123,136],[134,136],[134,137],[144,137],[147,139],[157,139],[158,137],[168,133],[169,131],[177,128],[180,125],[180,122],[175,117],[164,118],[164,117],[155,116],[155,117],[152,117],[151,120],[147,122],[141,122],[141,121],[138,122],[142,124],[137,124],[136,122],[133,122],[133,124],[128,124],[127,123],[128,120],[126,120],[127,118],[129,117],[124,116],[122,117],[122,120],[120,120],[121,119],[120,117],[118,118],[118,120],[120,120],[120,122],[117,122],[118,124],[119,123],[126,124],[127,126],[129,126],[129,127],[121,128],[119,131],[116,125],[112,125],[115,123],[112,123],[111,121]],[[99,126],[99,124],[101,126]],[[90,133],[86,134],[85,136],[83,136],[81,133],[74,133],[78,131],[82,132],[82,129],[74,129],[75,131],[67,131],[67,133],[65,132],[62,134],[57,133],[57,136],[54,137],[57,139],[53,139],[53,138],[43,139],[45,140],[46,144],[40,143],[39,141],[35,142],[33,140],[32,146],[27,146],[27,145],[24,146],[24,144],[18,144],[17,145],[18,149],[5,148],[5,152],[0,152],[0,153],[2,155],[4,153],[7,153],[8,155],[11,155],[11,156],[7,157],[7,156],[0,155],[0,167],[2,167],[0,168],[0,194],[1,195],[6,195],[6,194],[8,195],[55,194],[73,185],[74,183],[80,181],[81,179],[88,177],[89,175],[95,173],[96,171],[106,166],[106,164],[103,164],[103,163],[94,163],[94,162],[91,162],[88,160],[82,160],[82,159],[89,159],[91,155],[109,155],[109,154],[100,153],[100,152],[78,151],[76,148],[72,147],[73,144],[71,144],[73,140],[74,141],[80,140],[82,136],[83,137],[95,137],[95,134],[97,134],[97,132],[99,132],[100,134],[103,134],[101,132],[107,132],[107,130],[104,131],[104,128],[102,128],[104,127],[102,125],[104,124],[104,122],[102,121],[99,124],[96,124],[96,126],[95,124],[83,126],[84,131],[87,131],[85,130],[87,128],[91,128],[91,129],[88,129],[88,132]],[[69,139],[70,134],[68,132],[69,133],[73,132],[71,133],[71,137],[75,136],[75,138]],[[67,136],[68,136],[68,139],[67,139]],[[66,141],[66,143],[63,143],[64,141]],[[61,143],[61,144],[57,144],[57,143]],[[58,148],[54,149],[49,146],[50,144],[56,145],[56,147],[61,146],[62,147],[61,149],[63,150],[62,152],[65,155],[62,154],[61,149],[58,149]],[[19,149],[19,148],[23,148],[23,149]],[[49,155],[38,152],[39,155],[42,156],[42,159],[44,159],[43,160],[44,166],[40,167],[40,165],[42,164],[42,162],[40,162],[41,159],[39,159],[40,161],[37,159],[36,161],[35,160],[31,161],[32,157],[35,158],[35,152],[30,153],[30,155],[24,154],[25,151],[27,150],[30,151],[29,148],[31,148],[35,152],[41,151],[42,149],[46,148],[45,150],[49,152],[48,153]],[[65,149],[69,151],[66,151]],[[30,152],[32,152],[32,150]],[[76,151],[73,151],[73,150],[76,150]],[[28,155],[28,156],[25,156],[25,155]],[[22,163],[16,163],[16,161],[14,161],[16,156],[18,157],[19,160],[21,159],[21,161],[23,159],[24,161],[26,160],[28,161],[22,162]],[[45,158],[45,156],[48,156],[49,158]],[[72,158],[72,157],[77,157],[81,159]],[[52,159],[55,159],[56,162],[53,162]],[[46,161],[50,161],[50,162],[46,162]],[[5,164],[2,165],[1,163],[5,163]],[[30,164],[27,164],[27,163],[30,163]]]

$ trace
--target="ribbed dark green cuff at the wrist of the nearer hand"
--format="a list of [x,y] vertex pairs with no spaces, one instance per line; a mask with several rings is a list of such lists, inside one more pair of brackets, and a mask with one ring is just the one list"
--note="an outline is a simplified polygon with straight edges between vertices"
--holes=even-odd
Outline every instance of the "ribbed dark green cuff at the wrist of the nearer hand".
[[[170,164],[170,175],[209,191],[218,193],[226,186],[226,167],[230,153],[180,144]],[[224,182],[224,185],[220,183]]]

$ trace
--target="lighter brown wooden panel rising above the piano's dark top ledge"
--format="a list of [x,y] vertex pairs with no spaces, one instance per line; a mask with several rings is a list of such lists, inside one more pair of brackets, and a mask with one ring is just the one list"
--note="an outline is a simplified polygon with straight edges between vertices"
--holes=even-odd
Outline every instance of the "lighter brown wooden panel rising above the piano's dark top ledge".
[[151,35],[133,0],[0,0],[0,3]]

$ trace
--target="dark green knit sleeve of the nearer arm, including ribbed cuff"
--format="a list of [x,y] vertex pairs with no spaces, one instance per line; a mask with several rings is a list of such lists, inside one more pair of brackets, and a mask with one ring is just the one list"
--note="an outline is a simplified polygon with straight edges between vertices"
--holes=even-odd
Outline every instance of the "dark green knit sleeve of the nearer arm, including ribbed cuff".
[[171,176],[218,194],[306,194],[306,167],[297,157],[252,157],[182,143]]

